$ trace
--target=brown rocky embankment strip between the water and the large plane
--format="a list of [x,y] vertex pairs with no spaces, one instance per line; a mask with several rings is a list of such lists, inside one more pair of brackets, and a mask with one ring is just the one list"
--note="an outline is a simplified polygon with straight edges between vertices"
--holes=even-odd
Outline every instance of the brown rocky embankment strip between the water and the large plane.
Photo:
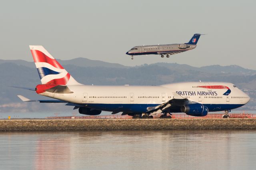
[[256,129],[256,119],[1,120],[0,131]]

